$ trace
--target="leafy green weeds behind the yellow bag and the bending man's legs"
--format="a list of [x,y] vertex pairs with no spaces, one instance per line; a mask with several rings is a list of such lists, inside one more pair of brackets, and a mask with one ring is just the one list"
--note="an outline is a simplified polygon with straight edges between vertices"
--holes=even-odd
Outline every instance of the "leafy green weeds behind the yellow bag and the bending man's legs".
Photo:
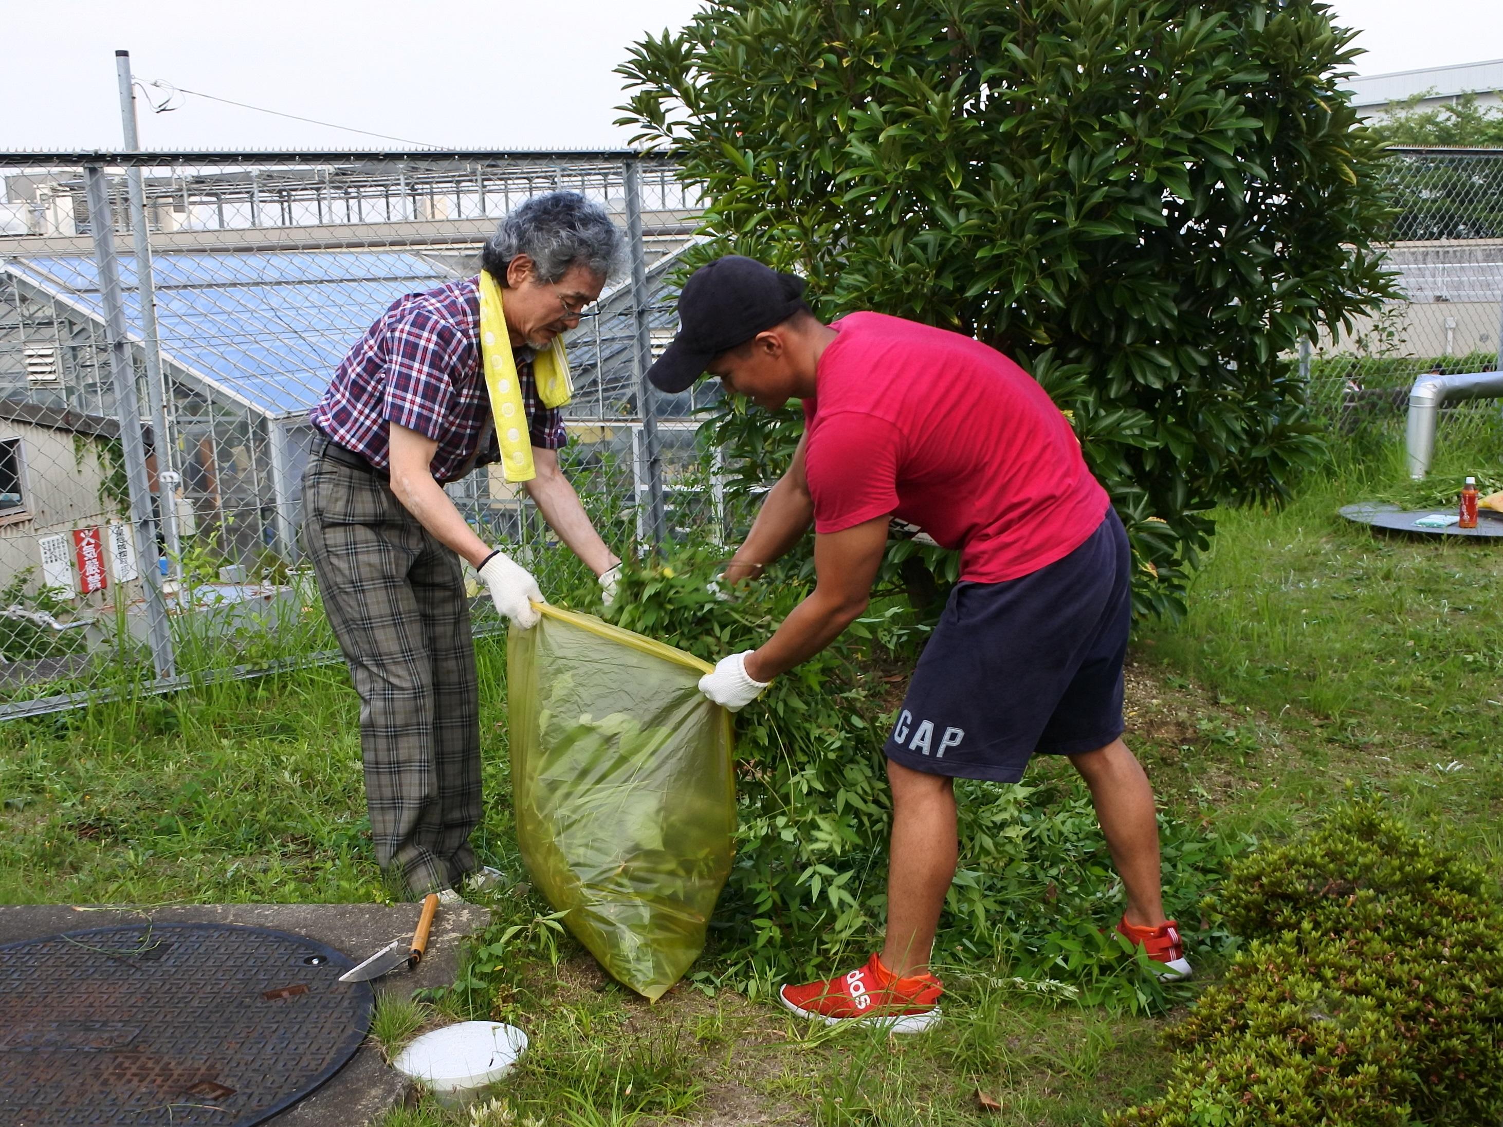
[[[765,639],[807,594],[797,560],[724,601],[708,589],[717,553],[684,547],[627,565],[615,618],[706,660]],[[878,603],[830,648],[777,678],[736,717],[736,858],[715,909],[711,957],[690,978],[748,998],[777,983],[864,962],[887,909],[890,793],[882,738],[894,706],[881,670],[917,661],[921,622]],[[1040,786],[962,781],[960,867],[945,900],[938,960],[1001,963],[1063,980],[1084,1001],[1162,1011],[1177,995],[1117,938],[1121,890],[1073,771]],[[1201,900],[1249,841],[1160,819],[1168,911],[1202,950],[1231,938]]]

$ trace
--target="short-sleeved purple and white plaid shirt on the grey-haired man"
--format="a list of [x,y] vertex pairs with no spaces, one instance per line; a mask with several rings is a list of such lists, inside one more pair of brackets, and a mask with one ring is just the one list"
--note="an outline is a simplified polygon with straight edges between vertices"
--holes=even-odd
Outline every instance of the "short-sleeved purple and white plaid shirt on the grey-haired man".
[[[513,350],[534,446],[559,449],[564,412],[544,407],[532,350]],[[340,362],[308,419],[331,442],[371,466],[391,461],[388,422],[434,439],[430,469],[439,482],[500,461],[490,394],[479,370],[479,287],[473,278],[398,298]],[[481,442],[485,449],[476,451]],[[476,457],[478,454],[478,457]]]

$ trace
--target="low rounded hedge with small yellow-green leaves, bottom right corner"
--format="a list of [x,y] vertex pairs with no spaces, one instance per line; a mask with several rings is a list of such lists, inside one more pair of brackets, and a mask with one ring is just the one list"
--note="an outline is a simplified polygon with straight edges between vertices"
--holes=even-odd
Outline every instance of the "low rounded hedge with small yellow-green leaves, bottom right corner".
[[1503,912],[1492,881],[1363,802],[1238,863],[1250,939],[1168,1031],[1168,1092],[1114,1127],[1503,1119]]

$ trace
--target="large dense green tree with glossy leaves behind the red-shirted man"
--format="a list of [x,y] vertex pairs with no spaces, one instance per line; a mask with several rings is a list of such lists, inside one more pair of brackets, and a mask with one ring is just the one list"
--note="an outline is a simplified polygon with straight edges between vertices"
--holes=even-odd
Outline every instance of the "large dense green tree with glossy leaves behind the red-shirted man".
[[[1384,293],[1351,33],[1290,0],[709,0],[621,68],[714,251],[957,329],[1070,412],[1177,606],[1317,449],[1287,355]],[[788,448],[788,419],[742,439]]]

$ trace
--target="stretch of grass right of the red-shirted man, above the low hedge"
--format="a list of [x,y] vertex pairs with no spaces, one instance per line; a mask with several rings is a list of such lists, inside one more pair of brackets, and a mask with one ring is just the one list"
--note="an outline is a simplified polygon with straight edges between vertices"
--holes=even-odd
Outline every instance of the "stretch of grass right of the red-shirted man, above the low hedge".
[[1366,457],[1342,451],[1282,509],[1219,514],[1186,621],[1139,637],[1171,684],[1244,717],[1198,724],[1195,741],[1246,751],[1240,789],[1217,802],[1234,825],[1285,834],[1359,787],[1443,843],[1503,860],[1503,550],[1375,535],[1336,515],[1372,497],[1449,506],[1467,473],[1500,476],[1495,406],[1449,430],[1423,485],[1405,479],[1395,436]]

